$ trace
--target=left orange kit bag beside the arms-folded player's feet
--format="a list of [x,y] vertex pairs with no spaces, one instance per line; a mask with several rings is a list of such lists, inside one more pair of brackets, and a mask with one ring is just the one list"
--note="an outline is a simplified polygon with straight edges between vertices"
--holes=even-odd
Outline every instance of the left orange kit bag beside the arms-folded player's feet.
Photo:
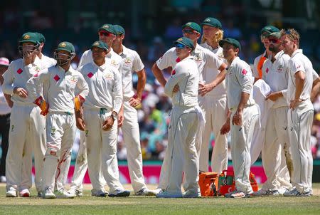
[[201,196],[218,196],[218,173],[201,172],[198,184]]

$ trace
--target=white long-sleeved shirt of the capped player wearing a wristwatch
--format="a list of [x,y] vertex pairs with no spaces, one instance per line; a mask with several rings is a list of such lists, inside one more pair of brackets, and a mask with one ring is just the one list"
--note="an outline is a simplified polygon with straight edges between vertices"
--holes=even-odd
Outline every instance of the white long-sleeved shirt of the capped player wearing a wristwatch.
[[118,113],[122,105],[122,81],[117,69],[107,63],[101,66],[87,63],[80,73],[89,86],[84,108],[106,108]]

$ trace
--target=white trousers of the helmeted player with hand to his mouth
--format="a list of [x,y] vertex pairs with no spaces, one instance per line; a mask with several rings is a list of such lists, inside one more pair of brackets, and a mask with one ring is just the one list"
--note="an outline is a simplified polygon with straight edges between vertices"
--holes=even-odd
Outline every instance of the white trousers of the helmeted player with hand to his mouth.
[[[14,103],[10,116],[6,157],[6,188],[30,189],[32,152],[35,157],[37,191],[41,191],[43,156],[46,152],[46,119],[36,105]],[[24,164],[23,164],[24,163]]]

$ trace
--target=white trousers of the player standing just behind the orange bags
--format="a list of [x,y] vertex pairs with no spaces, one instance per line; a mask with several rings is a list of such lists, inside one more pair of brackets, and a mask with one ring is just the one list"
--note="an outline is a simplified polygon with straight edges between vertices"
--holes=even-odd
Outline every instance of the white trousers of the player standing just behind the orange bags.
[[232,124],[235,111],[236,109],[231,111],[230,117],[231,155],[235,172],[235,187],[241,192],[251,193],[252,187],[249,179],[251,165],[250,145],[255,125],[259,120],[259,110],[257,105],[244,108],[242,126]]

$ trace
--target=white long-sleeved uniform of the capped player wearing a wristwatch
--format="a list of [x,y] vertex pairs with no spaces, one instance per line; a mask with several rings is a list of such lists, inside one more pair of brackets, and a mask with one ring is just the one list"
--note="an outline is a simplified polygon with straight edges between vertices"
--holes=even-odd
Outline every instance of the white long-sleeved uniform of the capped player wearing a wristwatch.
[[119,182],[117,163],[117,120],[114,120],[111,130],[102,130],[103,122],[111,116],[112,111],[119,112],[121,108],[121,75],[107,63],[101,66],[87,63],[82,66],[80,73],[89,85],[89,94],[83,104],[83,117],[87,165],[93,190],[104,191],[104,184],[99,182],[101,166],[110,192],[124,190]]

